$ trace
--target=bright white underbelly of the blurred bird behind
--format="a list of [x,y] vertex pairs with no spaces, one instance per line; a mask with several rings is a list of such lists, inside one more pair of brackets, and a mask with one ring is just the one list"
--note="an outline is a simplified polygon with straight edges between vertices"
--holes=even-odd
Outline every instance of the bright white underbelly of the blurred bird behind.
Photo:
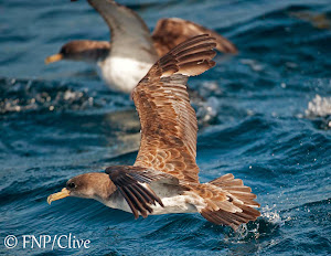
[[103,79],[113,89],[130,93],[149,72],[152,63],[111,56],[99,63]]

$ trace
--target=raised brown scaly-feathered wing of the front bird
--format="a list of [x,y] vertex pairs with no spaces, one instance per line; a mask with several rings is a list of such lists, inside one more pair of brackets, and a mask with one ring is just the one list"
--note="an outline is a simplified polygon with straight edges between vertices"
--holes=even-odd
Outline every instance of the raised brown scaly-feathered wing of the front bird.
[[215,63],[215,39],[192,38],[161,57],[140,81],[132,98],[141,122],[135,166],[162,171],[185,182],[199,182],[196,117],[186,92],[189,76]]

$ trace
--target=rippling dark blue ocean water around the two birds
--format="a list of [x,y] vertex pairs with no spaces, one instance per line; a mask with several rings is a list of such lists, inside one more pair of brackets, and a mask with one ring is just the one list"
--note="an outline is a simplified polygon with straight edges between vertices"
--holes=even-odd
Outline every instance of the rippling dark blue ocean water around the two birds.
[[[201,181],[233,173],[261,216],[237,232],[199,214],[134,220],[92,200],[46,198],[79,173],[131,164],[139,120],[127,95],[93,66],[44,65],[73,39],[107,40],[85,2],[0,0],[1,255],[330,255],[331,2],[124,0],[153,29],[192,20],[232,40],[236,56],[190,79],[197,107]],[[70,235],[89,248],[23,248],[23,235]],[[4,246],[14,235],[18,245]],[[44,236],[41,236],[44,235]]]

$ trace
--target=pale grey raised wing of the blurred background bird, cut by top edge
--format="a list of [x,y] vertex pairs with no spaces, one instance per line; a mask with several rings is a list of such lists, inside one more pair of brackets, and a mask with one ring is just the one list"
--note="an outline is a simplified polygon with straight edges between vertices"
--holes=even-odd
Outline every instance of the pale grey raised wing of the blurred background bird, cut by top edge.
[[131,9],[113,0],[88,0],[110,29],[111,55],[154,63],[158,54],[143,20]]

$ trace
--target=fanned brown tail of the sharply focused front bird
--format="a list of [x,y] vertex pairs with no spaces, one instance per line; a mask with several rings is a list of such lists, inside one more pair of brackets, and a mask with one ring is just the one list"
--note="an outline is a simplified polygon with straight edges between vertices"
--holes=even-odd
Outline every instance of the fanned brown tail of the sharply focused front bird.
[[233,174],[225,174],[203,185],[210,196],[203,196],[206,206],[200,213],[207,221],[237,230],[241,224],[255,221],[260,215],[254,209],[259,204],[254,201],[256,195],[252,189],[244,185],[241,179],[234,179]]

